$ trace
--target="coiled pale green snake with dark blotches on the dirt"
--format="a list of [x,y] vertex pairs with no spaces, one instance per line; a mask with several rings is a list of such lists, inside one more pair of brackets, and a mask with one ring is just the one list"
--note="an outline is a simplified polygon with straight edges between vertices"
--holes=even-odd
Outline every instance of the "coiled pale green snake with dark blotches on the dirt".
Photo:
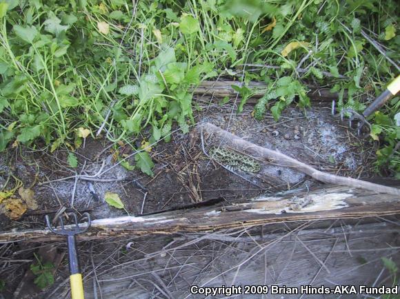
[[209,152],[212,159],[226,167],[241,169],[244,172],[259,172],[261,169],[260,163],[254,160],[254,158],[238,154],[229,149],[211,147]]

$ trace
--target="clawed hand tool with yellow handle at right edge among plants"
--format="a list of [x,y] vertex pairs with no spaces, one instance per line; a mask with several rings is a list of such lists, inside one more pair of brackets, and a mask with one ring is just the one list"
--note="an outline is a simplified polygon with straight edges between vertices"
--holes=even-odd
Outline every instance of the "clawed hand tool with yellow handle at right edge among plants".
[[[352,128],[352,122],[357,121],[357,134],[361,134],[363,131],[364,127],[367,127],[368,133],[371,130],[371,125],[367,121],[368,116],[370,116],[372,113],[377,111],[380,107],[385,105],[390,99],[393,98],[398,92],[400,91],[400,75],[397,76],[396,79],[394,79],[386,88],[384,92],[382,92],[377,99],[374,99],[372,103],[366,108],[366,110],[363,111],[363,113],[358,113],[351,108],[346,108],[341,110],[340,112],[340,118],[341,121],[343,121],[343,116],[349,116],[348,122],[349,122],[349,127]],[[334,105],[332,107],[332,114],[334,113]],[[368,134],[367,133],[367,134]],[[364,134],[363,136],[366,136]]]

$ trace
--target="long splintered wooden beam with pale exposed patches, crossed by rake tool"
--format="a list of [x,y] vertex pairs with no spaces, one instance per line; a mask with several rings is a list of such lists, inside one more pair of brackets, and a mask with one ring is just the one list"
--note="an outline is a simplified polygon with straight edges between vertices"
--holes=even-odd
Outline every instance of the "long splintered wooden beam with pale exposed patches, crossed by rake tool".
[[[400,213],[399,196],[363,189],[336,186],[312,192],[280,196],[261,196],[248,203],[221,207],[177,210],[149,216],[126,216],[92,221],[92,227],[78,236],[80,240],[111,236],[172,234],[178,231],[214,231],[215,229],[251,227],[285,221],[330,218],[354,218]],[[63,240],[48,229],[8,231],[0,234],[0,243],[12,241],[43,242]]]

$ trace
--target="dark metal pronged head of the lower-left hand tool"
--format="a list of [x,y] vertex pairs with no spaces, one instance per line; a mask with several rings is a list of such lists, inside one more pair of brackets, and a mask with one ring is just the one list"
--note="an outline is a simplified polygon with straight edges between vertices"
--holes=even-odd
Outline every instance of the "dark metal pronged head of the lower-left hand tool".
[[[45,218],[48,229],[50,229],[50,231],[52,231],[54,234],[63,236],[74,236],[77,234],[84,233],[89,229],[91,223],[89,213],[85,212],[79,218],[75,213],[71,213],[68,215],[72,216],[73,221],[72,222],[69,221],[69,223],[71,224],[66,225],[67,222],[64,221],[64,217],[60,216],[58,220],[60,225],[59,227],[53,226],[52,222],[50,221],[50,216],[46,215]],[[85,219],[87,219],[87,221],[83,222],[83,220]],[[81,224],[81,226],[79,226],[79,224]],[[83,226],[83,224],[85,225]]]

